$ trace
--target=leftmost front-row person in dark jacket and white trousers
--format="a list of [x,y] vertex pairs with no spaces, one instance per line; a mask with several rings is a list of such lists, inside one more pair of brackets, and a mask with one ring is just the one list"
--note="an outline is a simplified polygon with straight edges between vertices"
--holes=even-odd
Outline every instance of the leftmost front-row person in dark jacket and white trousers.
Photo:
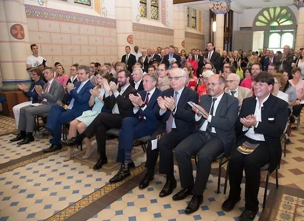
[[17,87],[22,90],[23,93],[29,98],[29,101],[17,104],[13,107],[13,113],[17,128],[19,125],[20,109],[22,107],[41,102],[34,87],[35,85],[40,85],[43,88],[45,84],[45,82],[42,80],[42,70],[40,68],[32,69],[31,79],[33,82],[31,83],[30,88],[25,84],[17,84]]

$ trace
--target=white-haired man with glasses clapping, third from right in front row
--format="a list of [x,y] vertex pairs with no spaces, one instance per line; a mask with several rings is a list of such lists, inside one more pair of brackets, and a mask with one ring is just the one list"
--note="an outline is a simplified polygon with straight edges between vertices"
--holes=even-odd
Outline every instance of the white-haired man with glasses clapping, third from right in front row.
[[[163,91],[163,97],[157,98],[156,116],[162,124],[152,134],[151,141],[149,141],[146,162],[148,171],[139,184],[139,188],[146,188],[149,186],[149,182],[154,179],[154,167],[159,152],[159,173],[167,175],[166,184],[159,193],[159,197],[170,195],[176,188],[172,149],[195,130],[194,112],[188,102],[197,103],[198,101],[197,92],[185,87],[187,79],[183,69],[171,69],[169,81],[171,88]],[[163,137],[157,140],[157,135],[160,134],[163,134]]]

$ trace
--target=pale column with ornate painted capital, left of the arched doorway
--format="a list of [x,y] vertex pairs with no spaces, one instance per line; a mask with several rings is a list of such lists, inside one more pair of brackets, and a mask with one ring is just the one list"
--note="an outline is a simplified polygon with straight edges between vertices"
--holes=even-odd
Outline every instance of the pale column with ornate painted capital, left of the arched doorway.
[[216,50],[222,52],[224,50],[224,25],[225,25],[225,14],[230,10],[231,0],[215,1],[211,0],[209,8],[216,14],[216,34],[214,45]]

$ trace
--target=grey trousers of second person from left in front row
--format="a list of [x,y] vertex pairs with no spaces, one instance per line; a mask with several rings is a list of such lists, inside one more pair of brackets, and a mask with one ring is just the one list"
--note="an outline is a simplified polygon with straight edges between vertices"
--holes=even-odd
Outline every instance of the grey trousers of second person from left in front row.
[[49,113],[49,111],[50,106],[46,104],[42,104],[37,107],[31,105],[22,107],[20,109],[18,130],[26,131],[27,133],[33,133],[35,125],[35,115]]

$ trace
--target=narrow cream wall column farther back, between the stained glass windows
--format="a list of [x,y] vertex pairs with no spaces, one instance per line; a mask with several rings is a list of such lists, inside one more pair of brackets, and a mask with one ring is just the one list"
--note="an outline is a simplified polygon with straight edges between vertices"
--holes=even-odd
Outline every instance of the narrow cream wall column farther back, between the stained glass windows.
[[185,6],[180,4],[173,5],[173,20],[173,42],[180,52],[185,49]]

